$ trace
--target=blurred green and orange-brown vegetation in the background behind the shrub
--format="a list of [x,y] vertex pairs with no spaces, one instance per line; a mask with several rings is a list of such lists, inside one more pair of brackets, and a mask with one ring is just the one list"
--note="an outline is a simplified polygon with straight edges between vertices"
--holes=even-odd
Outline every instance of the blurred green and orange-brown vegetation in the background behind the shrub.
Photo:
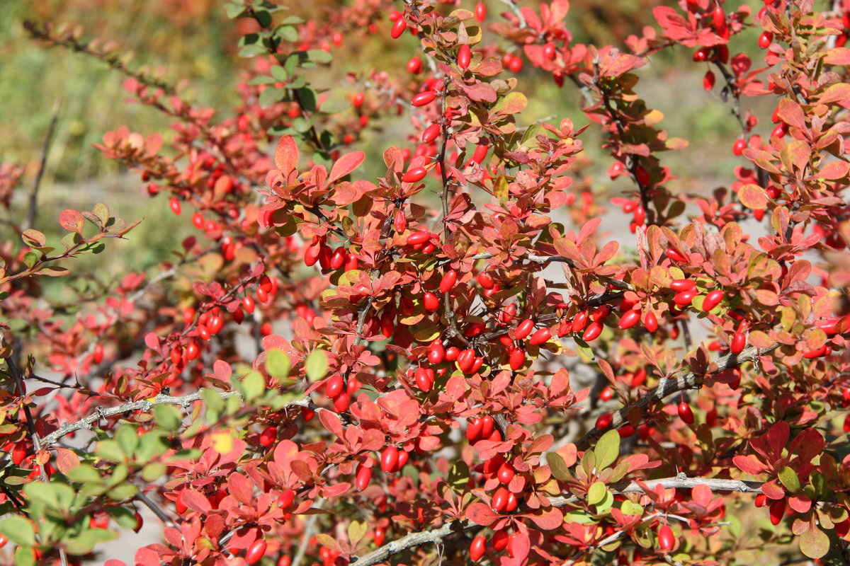
[[[490,20],[499,18],[504,8],[498,0],[485,0]],[[320,19],[322,14],[341,5],[333,0],[280,0],[305,19]],[[521,2],[538,10],[537,2]],[[575,42],[622,46],[630,34],[640,34],[644,25],[653,25],[652,8],[659,4],[675,4],[672,0],[573,0],[568,22]],[[726,6],[740,4],[728,0]],[[761,2],[751,0],[757,9]],[[472,0],[462,5],[472,8]],[[449,7],[445,7],[449,8]],[[108,246],[106,256],[96,256],[92,265],[111,266],[106,271],[119,273],[128,269],[144,269],[156,264],[177,249],[179,237],[190,233],[188,215],[175,217],[167,213],[166,198],[147,199],[143,183],[115,162],[105,160],[92,147],[105,132],[127,125],[144,135],[162,132],[166,135],[171,120],[155,110],[139,104],[127,104],[122,89],[123,76],[102,62],[63,48],[45,48],[31,40],[24,31],[24,20],[53,22],[55,25],[77,25],[82,38],[99,42],[116,42],[127,53],[127,64],[146,70],[177,85],[184,98],[195,104],[210,106],[227,115],[236,103],[235,83],[246,60],[235,55],[241,35],[237,25],[224,14],[221,0],[0,0],[0,163],[13,162],[26,166],[25,186],[31,185],[41,159],[41,147],[53,117],[54,104],[61,101],[53,143],[39,194],[36,227],[50,233],[59,210],[90,209],[94,203],[109,204],[120,216],[134,220],[139,216],[154,218],[131,233],[130,238],[144,245],[133,246],[127,255],[118,246]],[[347,37],[343,47],[333,51],[331,65],[320,71],[317,83],[322,87],[344,86],[347,73],[365,75],[371,69],[404,70],[407,59],[417,52],[416,38],[405,36],[402,43],[393,42],[386,28],[379,26],[377,37],[364,42]],[[357,33],[364,33],[359,30]],[[756,31],[747,31],[734,39],[733,53],[744,50],[755,54]],[[491,36],[491,41],[495,36]],[[351,48],[356,46],[356,48]],[[391,48],[392,47],[392,48]],[[739,126],[729,114],[728,104],[714,92],[702,88],[705,64],[694,64],[691,53],[682,48],[656,55],[649,65],[638,71],[638,92],[650,108],[660,109],[666,119],[661,126],[670,136],[684,137],[689,149],[663,156],[672,174],[678,177],[671,188],[680,191],[705,192],[728,185],[731,178],[718,178],[717,171],[730,171],[732,163],[745,165],[730,152]],[[519,91],[529,100],[529,109],[520,117],[525,124],[547,119],[557,123],[569,117],[581,126],[587,119],[581,113],[581,97],[569,81],[558,89],[548,76],[537,72],[528,62],[519,74]],[[766,119],[762,129],[769,132],[768,101],[746,100],[745,106],[764,102],[757,115]],[[762,122],[763,123],[763,122]],[[365,150],[367,171],[380,174],[381,154],[391,144],[404,143],[411,132],[407,115],[388,117],[376,124],[376,131],[358,142],[356,149]],[[599,147],[600,137],[594,128],[582,136],[594,165],[585,171],[594,183],[610,187],[612,195],[631,188],[626,179],[609,180],[605,171],[611,165]],[[597,159],[603,158],[603,159]],[[29,190],[27,188],[27,190]],[[594,191],[596,184],[594,184]],[[26,212],[26,202],[19,194],[14,202],[13,218]],[[20,242],[7,227],[0,228],[0,238]]]

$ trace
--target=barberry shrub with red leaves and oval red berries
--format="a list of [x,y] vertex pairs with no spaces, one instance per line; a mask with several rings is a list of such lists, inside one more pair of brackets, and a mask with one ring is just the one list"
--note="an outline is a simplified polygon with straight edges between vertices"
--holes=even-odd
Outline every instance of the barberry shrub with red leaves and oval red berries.
[[[195,235],[74,311],[42,277],[133,224],[97,204],[3,244],[4,563],[101,563],[143,513],[141,566],[847,563],[850,2],[728,4],[615,47],[567,0],[231,2],[232,111],[29,22],[173,117],[99,149]],[[314,85],[367,42],[402,62]],[[711,194],[663,165],[688,142],[650,58],[740,129]],[[524,120],[518,76],[587,126]],[[361,142],[397,113],[407,137]]]

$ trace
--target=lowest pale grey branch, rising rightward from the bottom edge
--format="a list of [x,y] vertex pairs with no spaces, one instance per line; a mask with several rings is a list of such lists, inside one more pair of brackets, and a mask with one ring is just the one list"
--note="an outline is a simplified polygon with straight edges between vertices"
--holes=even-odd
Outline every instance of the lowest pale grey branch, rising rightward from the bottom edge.
[[[736,479],[713,479],[713,478],[688,478],[684,474],[679,474],[674,478],[652,479],[642,482],[647,488],[654,489],[661,485],[665,489],[690,489],[697,485],[707,485],[712,491],[740,491],[744,493],[758,493],[761,491],[762,484],[754,481],[739,481]],[[620,489],[612,486],[612,489],[617,494],[627,493],[644,493],[643,488],[637,482],[626,484]],[[565,507],[573,503],[581,502],[581,499],[576,496],[571,497],[553,497],[549,499],[552,507]],[[434,530],[425,530],[410,535],[402,536],[400,539],[388,542],[377,550],[369,552],[365,556],[357,559],[351,566],[372,566],[372,564],[381,563],[387,560],[390,556],[404,552],[408,548],[420,546],[427,543],[439,543],[445,537],[454,533],[460,533],[467,529],[472,529],[479,526],[468,519],[456,519],[450,523]],[[295,564],[293,563],[293,566]]]

